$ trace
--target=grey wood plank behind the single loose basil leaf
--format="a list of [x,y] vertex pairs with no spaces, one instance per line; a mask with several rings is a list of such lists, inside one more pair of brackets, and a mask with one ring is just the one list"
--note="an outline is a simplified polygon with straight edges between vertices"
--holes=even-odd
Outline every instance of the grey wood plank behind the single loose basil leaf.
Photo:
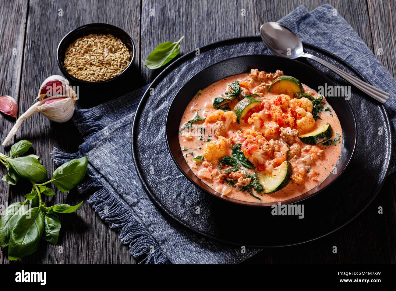
[[177,41],[185,35],[180,44],[180,54],[183,55],[212,42],[253,35],[256,31],[253,15],[254,1],[249,0],[143,0],[141,71],[144,80],[151,82],[162,70],[152,71],[143,65],[158,44]]

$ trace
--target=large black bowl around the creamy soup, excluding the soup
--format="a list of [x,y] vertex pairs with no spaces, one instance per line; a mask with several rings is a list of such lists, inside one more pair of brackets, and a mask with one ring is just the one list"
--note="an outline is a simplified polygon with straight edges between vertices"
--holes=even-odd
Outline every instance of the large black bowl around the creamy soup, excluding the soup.
[[[166,116],[166,141],[171,156],[177,167],[179,167],[181,172],[192,183],[200,187],[202,190],[212,194],[213,196],[227,200],[229,202],[234,202],[236,204],[270,207],[274,203],[240,201],[223,196],[222,194],[210,188],[191,171],[183,157],[183,152],[181,151],[179,145],[180,120],[183,116],[185,108],[196,92],[208,87],[210,84],[213,84],[222,78],[242,74],[244,72],[250,72],[250,69],[252,68],[257,68],[266,72],[275,72],[277,69],[282,70],[285,75],[294,76],[312,89],[318,88],[319,86],[325,86],[326,83],[327,86],[335,86],[335,84],[331,82],[329,78],[327,78],[318,70],[304,63],[291,59],[271,55],[244,55],[227,59],[204,68],[192,76],[176,93],[169,107],[168,115]],[[343,173],[349,164],[350,159],[352,158],[356,145],[356,122],[352,108],[350,107],[348,101],[342,97],[326,97],[326,100],[337,113],[343,131],[341,156],[336,164],[337,172],[335,174],[330,174],[315,188],[305,192],[300,196],[285,200],[282,202],[282,204],[299,202],[324,190]]]

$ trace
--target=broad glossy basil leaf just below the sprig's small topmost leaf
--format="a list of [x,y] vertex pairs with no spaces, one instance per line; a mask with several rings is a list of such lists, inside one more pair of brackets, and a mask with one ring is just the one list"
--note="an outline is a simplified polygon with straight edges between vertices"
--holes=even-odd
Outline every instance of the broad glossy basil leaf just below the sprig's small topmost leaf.
[[46,168],[33,157],[8,158],[7,162],[12,170],[22,178],[34,182],[44,182],[47,179]]

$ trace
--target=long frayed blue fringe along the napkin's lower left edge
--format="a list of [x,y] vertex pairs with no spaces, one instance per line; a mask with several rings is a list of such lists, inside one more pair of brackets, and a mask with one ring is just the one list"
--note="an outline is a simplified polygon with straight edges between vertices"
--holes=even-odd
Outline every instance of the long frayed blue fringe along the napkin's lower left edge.
[[[55,164],[63,164],[72,159],[80,158],[80,152],[68,154],[53,149],[51,157]],[[90,167],[90,166],[89,166]],[[139,217],[127,209],[115,196],[104,186],[101,179],[102,175],[90,175],[88,167],[88,175],[82,183],[77,186],[80,193],[94,191],[88,199],[88,203],[94,211],[109,224],[110,228],[120,228],[120,240],[124,245],[128,245],[129,253],[135,258],[139,258],[139,263],[146,264],[166,264],[169,263],[168,258],[152,238],[146,226],[141,222]]]

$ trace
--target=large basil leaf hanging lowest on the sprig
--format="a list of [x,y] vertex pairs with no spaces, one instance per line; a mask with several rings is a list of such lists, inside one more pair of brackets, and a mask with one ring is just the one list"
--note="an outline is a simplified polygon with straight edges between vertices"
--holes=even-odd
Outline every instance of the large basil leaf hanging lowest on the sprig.
[[34,253],[44,233],[44,215],[39,207],[26,211],[11,229],[8,259],[13,261]]

